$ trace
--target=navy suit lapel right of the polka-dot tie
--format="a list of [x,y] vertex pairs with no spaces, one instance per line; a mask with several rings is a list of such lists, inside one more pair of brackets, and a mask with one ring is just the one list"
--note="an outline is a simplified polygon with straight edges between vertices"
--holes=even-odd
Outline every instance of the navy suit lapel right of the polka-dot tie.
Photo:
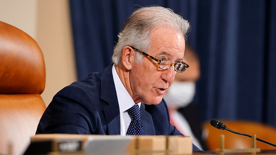
[[154,128],[151,114],[149,114],[145,110],[144,103],[141,103],[140,111],[141,111],[141,123],[143,125],[144,134],[145,135],[155,135],[155,128]]

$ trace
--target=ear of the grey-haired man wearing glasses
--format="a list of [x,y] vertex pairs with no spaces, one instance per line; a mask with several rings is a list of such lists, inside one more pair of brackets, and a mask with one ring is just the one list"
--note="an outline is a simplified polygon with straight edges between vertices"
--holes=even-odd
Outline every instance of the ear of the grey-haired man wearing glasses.
[[131,70],[132,63],[134,62],[135,56],[133,49],[129,46],[125,46],[122,50],[122,64],[127,70]]

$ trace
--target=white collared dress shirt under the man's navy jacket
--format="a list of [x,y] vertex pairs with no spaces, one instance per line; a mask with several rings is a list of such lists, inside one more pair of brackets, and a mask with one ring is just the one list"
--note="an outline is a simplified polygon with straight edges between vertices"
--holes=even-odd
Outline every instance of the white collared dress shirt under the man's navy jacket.
[[[115,89],[117,93],[119,108],[120,108],[120,123],[121,123],[121,136],[125,136],[128,130],[128,126],[131,122],[131,118],[128,115],[128,110],[131,108],[135,103],[131,96],[129,95],[128,91],[125,89],[123,83],[121,82],[113,64],[112,66],[112,75],[113,80],[115,83]],[[141,102],[138,103],[140,108]]]

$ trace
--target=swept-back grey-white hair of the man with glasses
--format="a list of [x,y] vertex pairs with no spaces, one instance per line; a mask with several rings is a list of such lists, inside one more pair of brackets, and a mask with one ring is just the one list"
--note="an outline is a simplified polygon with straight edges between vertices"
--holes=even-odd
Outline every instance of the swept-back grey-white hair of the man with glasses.
[[[172,9],[161,6],[149,6],[136,9],[123,25],[118,34],[118,43],[114,47],[112,61],[118,66],[125,46],[133,46],[144,52],[151,45],[150,34],[154,28],[167,27],[182,33],[184,39],[190,31],[190,23]],[[143,55],[136,52],[135,62],[142,64]]]

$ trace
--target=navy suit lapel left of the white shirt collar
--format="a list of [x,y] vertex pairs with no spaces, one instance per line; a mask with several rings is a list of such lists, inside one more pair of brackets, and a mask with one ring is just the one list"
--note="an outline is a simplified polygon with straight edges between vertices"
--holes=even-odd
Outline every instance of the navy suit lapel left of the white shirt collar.
[[108,106],[103,109],[108,134],[121,134],[120,109],[113,81],[112,65],[106,67],[100,76],[100,99],[108,104]]

